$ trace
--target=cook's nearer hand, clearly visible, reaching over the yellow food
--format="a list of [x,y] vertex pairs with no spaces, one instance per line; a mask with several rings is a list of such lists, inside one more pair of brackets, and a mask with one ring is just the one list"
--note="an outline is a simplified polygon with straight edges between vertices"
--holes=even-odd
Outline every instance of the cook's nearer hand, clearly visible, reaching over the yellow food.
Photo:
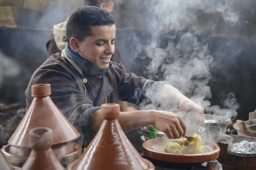
[[178,139],[186,134],[183,119],[172,112],[154,111],[154,127],[166,134],[169,139]]

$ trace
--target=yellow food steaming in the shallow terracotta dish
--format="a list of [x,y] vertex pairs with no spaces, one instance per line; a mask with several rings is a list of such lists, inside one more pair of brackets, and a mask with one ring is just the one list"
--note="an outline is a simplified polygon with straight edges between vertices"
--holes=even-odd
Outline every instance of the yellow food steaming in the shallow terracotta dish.
[[165,147],[157,149],[157,151],[175,154],[198,154],[204,153],[204,146],[201,136],[196,133],[191,142],[187,139],[174,139],[167,143]]

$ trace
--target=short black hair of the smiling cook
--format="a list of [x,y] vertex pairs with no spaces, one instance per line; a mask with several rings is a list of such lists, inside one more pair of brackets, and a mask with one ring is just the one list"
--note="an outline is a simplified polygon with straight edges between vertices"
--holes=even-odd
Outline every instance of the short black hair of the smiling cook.
[[67,21],[66,40],[70,45],[70,39],[75,37],[80,42],[86,37],[93,36],[90,26],[112,26],[115,20],[105,9],[95,6],[78,8]]

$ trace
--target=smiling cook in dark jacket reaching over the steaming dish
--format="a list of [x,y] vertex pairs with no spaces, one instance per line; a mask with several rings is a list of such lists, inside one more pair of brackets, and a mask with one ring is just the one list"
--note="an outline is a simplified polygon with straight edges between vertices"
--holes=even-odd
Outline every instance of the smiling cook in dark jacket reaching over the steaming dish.
[[[116,40],[114,23],[104,9],[85,6],[76,10],[67,22],[68,45],[61,53],[50,56],[32,75],[25,92],[27,108],[32,102],[31,86],[51,84],[51,98],[81,133],[77,142],[82,147],[87,147],[103,122],[100,105],[118,100],[140,105],[151,90],[163,93],[170,106],[194,114],[198,125],[204,122],[204,109],[176,88],[127,74],[122,64],[111,62]],[[183,119],[167,111],[120,112],[118,121],[125,132],[154,125],[169,138],[186,134]]]

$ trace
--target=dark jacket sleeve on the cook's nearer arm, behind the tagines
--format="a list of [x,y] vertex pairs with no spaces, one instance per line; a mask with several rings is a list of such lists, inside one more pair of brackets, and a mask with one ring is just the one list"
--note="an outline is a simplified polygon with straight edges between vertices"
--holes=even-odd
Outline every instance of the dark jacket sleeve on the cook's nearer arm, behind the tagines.
[[[79,131],[81,135],[79,141],[82,142],[82,147],[87,147],[95,136],[92,128],[93,113],[100,107],[94,107],[93,102],[85,95],[85,91],[78,90],[76,83],[81,82],[76,82],[70,74],[55,70],[48,70],[43,74],[38,72],[37,74],[40,77],[35,84],[51,85],[52,95],[50,97],[52,101]],[[31,96],[31,88],[29,89],[28,95]]]

